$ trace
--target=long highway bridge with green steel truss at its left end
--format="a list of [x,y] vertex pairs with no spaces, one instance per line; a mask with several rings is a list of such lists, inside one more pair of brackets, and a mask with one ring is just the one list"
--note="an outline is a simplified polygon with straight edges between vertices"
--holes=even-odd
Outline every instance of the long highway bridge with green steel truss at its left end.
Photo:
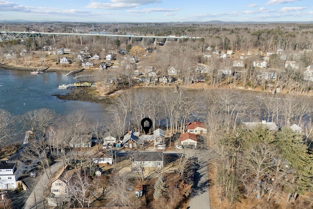
[[0,30],[0,42],[11,41],[15,39],[36,39],[43,36],[80,36],[80,37],[116,37],[116,38],[129,38],[132,39],[163,39],[164,42],[167,40],[178,41],[179,39],[200,39],[201,37],[189,37],[189,36],[145,36],[145,35],[121,35],[121,34],[102,34],[102,33],[50,33],[50,32],[18,32],[18,31],[4,31]]

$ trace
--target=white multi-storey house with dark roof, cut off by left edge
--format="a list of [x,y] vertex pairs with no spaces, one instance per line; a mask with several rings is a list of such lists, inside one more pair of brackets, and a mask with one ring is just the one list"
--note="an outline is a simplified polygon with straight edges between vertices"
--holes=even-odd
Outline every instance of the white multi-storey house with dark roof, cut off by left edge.
[[16,188],[16,163],[0,161],[0,189]]

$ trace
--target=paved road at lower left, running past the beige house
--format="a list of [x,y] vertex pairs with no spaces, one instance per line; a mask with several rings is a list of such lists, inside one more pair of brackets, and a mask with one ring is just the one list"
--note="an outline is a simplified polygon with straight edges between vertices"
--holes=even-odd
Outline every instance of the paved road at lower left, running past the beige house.
[[[50,166],[52,176],[63,166],[63,161],[56,162],[53,165]],[[43,191],[47,188],[50,188],[48,186],[49,180],[45,174],[45,172],[38,177],[35,177],[37,179],[37,184],[31,194],[29,195],[28,199],[26,200],[23,209],[36,209],[36,203],[37,203],[37,209],[43,209],[44,208],[44,202],[43,202]],[[35,201],[36,196],[36,201]]]

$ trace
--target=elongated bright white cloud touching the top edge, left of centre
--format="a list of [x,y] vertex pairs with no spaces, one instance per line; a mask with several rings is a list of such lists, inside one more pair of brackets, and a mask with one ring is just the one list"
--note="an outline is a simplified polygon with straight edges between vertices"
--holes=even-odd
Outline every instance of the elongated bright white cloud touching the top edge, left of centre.
[[91,2],[86,7],[92,9],[129,9],[140,5],[158,3],[161,0],[111,0],[112,3]]

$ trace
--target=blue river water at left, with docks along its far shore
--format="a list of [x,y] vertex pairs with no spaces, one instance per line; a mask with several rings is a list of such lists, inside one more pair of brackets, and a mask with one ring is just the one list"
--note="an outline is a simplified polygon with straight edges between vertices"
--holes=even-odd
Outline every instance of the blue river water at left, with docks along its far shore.
[[0,108],[9,111],[11,115],[23,115],[40,108],[52,109],[62,115],[84,110],[90,117],[101,119],[105,113],[105,105],[64,101],[51,96],[70,91],[58,89],[59,84],[76,82],[72,76],[63,74],[63,72],[31,74],[30,71],[0,69]]

